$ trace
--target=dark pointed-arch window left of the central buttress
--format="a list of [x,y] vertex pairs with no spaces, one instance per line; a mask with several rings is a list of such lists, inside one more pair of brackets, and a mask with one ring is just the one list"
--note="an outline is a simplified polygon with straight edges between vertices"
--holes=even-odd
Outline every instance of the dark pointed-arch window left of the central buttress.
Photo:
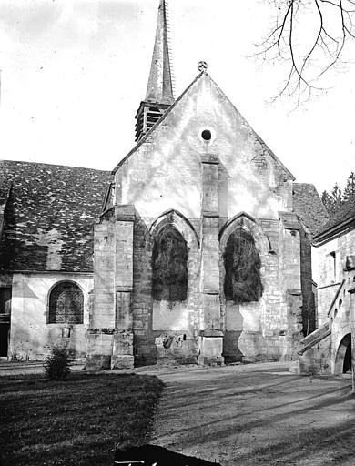
[[177,228],[167,225],[154,241],[153,299],[185,301],[188,295],[188,247]]

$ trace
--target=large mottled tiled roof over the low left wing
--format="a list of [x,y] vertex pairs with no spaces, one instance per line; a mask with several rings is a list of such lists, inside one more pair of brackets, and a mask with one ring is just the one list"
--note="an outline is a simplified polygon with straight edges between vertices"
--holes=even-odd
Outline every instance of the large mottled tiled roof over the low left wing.
[[0,161],[0,270],[92,271],[92,228],[110,179],[88,168]]

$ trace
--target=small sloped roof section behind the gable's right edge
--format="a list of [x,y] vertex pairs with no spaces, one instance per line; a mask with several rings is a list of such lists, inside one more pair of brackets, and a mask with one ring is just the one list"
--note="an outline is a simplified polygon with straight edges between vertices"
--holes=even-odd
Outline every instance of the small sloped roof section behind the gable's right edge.
[[317,189],[308,183],[293,184],[293,208],[312,237],[329,220]]

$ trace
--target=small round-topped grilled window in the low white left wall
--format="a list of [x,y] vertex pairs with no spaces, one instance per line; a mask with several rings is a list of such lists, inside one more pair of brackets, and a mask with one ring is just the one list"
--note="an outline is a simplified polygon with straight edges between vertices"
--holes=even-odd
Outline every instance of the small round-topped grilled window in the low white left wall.
[[49,295],[49,324],[82,324],[84,295],[71,281],[58,283]]

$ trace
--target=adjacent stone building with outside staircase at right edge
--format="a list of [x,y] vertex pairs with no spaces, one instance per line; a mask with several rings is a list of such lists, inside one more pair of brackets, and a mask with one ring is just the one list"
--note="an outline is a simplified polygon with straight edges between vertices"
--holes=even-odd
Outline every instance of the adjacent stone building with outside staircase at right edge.
[[351,370],[355,354],[354,199],[320,228],[313,245],[319,328],[302,339],[294,370],[340,375]]

